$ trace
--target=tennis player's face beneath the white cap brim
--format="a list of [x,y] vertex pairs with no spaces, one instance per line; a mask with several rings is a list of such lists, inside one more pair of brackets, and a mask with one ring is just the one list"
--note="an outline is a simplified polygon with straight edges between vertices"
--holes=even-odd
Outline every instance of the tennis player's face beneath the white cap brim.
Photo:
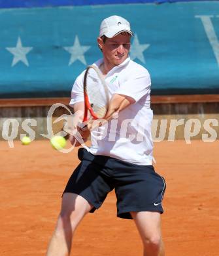
[[130,49],[131,35],[120,33],[112,38],[107,38],[105,43],[103,39],[98,38],[99,47],[101,47],[103,56],[112,66],[118,66],[126,60]]

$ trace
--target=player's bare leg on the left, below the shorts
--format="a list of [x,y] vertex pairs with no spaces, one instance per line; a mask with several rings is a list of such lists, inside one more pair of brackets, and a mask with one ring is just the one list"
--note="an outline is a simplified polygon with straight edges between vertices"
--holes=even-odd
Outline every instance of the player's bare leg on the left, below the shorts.
[[92,209],[82,196],[73,193],[63,194],[61,213],[56,229],[48,245],[47,256],[67,256],[71,251],[73,233],[84,215]]

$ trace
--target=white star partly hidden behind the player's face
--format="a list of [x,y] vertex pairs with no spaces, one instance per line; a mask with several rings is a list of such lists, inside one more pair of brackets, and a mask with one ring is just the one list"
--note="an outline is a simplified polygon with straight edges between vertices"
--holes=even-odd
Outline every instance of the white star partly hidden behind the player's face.
[[141,60],[141,62],[143,62],[145,64],[143,52],[146,49],[148,49],[149,46],[150,45],[148,45],[148,44],[141,45],[139,43],[139,38],[138,38],[137,34],[135,34],[133,43],[131,44],[131,51],[130,51],[131,60],[135,60],[135,58],[138,58],[139,60]]

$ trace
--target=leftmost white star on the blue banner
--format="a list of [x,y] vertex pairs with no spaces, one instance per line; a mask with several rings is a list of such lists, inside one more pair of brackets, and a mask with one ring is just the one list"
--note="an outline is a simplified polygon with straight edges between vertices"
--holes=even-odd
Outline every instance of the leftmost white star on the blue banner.
[[29,66],[26,54],[29,53],[33,47],[22,47],[22,40],[18,37],[16,47],[7,47],[7,51],[14,55],[11,66],[13,67],[18,62],[22,61],[26,66]]

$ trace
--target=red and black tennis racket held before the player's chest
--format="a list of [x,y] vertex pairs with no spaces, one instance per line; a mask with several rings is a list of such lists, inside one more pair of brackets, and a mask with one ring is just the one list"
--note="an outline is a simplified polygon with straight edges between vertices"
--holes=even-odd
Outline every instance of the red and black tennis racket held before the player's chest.
[[[84,74],[84,117],[81,128],[85,127],[92,119],[103,119],[109,107],[109,89],[103,74],[97,66],[88,66]],[[65,127],[71,134],[72,129]]]

